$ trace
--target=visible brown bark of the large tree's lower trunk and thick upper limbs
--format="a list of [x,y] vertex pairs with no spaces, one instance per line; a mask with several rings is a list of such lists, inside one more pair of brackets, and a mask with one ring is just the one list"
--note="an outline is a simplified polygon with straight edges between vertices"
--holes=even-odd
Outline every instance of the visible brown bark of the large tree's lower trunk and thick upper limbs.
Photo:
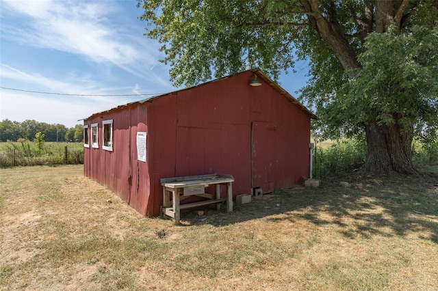
[[[357,61],[357,52],[350,46],[344,35],[343,28],[337,21],[335,12],[329,10],[322,14],[319,0],[300,0],[303,10],[309,18],[309,26],[318,32],[320,37],[329,45],[339,59],[349,79],[355,79],[361,64]],[[362,31],[366,36],[372,32],[373,15],[376,32],[384,33],[391,23],[400,25],[400,19],[407,8],[409,0],[375,1],[375,14],[372,12],[373,1],[365,2],[365,25]],[[362,171],[373,174],[389,174],[398,172],[416,174],[417,170],[412,161],[413,129],[403,128],[398,123],[400,117],[394,113],[393,124],[379,126],[376,120],[365,125],[368,157]]]

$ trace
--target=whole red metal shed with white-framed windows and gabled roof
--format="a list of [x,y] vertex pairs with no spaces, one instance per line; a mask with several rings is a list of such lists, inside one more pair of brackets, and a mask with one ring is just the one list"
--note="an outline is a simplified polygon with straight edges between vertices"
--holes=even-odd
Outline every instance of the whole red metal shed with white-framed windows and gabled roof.
[[146,216],[160,213],[160,178],[231,174],[233,196],[269,193],[309,176],[311,118],[247,70],[86,118],[83,170]]

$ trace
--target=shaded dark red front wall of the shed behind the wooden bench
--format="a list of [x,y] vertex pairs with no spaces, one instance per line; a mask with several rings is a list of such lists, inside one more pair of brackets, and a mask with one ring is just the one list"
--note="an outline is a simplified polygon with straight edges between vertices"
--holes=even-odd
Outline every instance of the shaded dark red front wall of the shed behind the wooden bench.
[[[149,122],[156,132],[172,132],[166,137],[156,135],[153,141],[154,148],[162,145],[154,149],[153,158],[167,161],[154,163],[158,175],[151,181],[155,185],[151,197],[159,195],[153,206],[157,214],[162,204],[159,178],[232,174],[233,195],[250,193],[251,187],[256,186],[251,179],[253,121],[268,122],[276,128],[271,135],[262,137],[263,147],[272,153],[261,149],[266,159],[263,163],[270,164],[263,191],[292,186],[307,175],[309,115],[271,86],[248,86],[250,77],[251,74],[237,75],[153,100],[154,113],[150,116],[154,120],[150,118]],[[163,119],[157,121],[159,116]],[[172,117],[177,117],[173,119],[176,124],[171,122]]]

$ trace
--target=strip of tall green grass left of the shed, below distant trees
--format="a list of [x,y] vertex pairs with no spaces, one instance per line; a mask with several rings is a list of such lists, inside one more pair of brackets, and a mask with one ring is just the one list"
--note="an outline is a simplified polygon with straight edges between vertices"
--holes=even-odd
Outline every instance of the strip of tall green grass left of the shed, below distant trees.
[[[65,147],[67,154],[65,155]],[[82,143],[0,143],[0,167],[82,164]]]

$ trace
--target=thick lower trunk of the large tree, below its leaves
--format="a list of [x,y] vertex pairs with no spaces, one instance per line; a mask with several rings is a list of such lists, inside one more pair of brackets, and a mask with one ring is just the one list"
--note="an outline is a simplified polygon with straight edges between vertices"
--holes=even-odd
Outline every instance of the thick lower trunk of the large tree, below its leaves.
[[368,156],[362,171],[372,174],[417,174],[412,161],[413,130],[403,130],[400,124],[365,126]]

